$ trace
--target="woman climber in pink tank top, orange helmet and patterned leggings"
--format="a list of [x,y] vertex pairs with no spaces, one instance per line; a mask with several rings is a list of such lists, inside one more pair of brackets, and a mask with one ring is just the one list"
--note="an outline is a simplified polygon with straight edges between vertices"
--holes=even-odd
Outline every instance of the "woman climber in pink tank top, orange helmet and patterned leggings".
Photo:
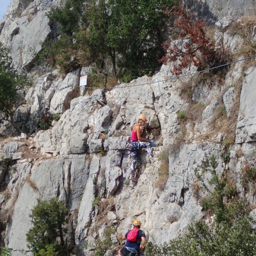
[[134,178],[134,169],[137,162],[137,155],[139,148],[145,148],[147,154],[150,156],[151,163],[154,162],[154,157],[152,155],[151,150],[151,143],[148,139],[141,137],[144,129],[144,125],[147,122],[146,117],[144,115],[140,115],[138,118],[138,122],[133,125],[132,129],[132,136],[129,143],[129,150],[132,156],[132,163],[131,163],[131,176],[130,178]]

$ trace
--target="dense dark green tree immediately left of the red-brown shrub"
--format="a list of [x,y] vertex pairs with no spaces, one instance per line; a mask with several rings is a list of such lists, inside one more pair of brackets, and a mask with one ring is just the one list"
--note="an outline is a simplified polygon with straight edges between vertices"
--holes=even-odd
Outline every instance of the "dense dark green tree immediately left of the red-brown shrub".
[[165,20],[176,3],[175,0],[110,0],[108,3],[101,0],[89,9],[89,45],[111,57],[114,75],[117,55],[122,56],[118,59],[119,66],[128,69],[131,78],[140,72],[152,72],[161,57]]

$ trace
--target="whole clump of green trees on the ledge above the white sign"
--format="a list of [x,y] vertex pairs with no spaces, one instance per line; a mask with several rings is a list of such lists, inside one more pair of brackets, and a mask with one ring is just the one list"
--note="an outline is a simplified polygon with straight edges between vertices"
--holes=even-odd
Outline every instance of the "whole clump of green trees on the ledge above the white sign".
[[117,66],[126,79],[153,74],[164,53],[164,26],[177,0],[83,2],[68,0],[49,12],[60,38],[44,46],[42,58],[65,72],[85,63],[101,69],[110,58],[114,76]]

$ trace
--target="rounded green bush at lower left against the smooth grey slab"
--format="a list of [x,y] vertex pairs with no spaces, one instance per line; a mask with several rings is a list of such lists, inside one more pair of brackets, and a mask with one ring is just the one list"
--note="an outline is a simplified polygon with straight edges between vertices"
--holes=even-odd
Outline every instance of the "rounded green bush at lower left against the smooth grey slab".
[[[50,201],[39,201],[32,210],[33,227],[27,233],[28,247],[35,255],[48,255],[50,251],[65,255],[65,229],[68,209],[64,202],[52,198]],[[59,238],[60,244],[56,242]],[[44,254],[45,253],[45,254]],[[54,254],[53,254],[54,255]]]

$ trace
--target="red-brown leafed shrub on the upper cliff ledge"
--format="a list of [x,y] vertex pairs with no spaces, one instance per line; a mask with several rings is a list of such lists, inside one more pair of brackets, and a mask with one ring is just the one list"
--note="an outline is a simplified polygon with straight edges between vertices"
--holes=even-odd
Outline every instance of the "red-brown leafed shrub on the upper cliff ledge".
[[211,42],[205,34],[205,22],[194,18],[194,14],[188,14],[180,5],[174,12],[174,27],[178,40],[168,41],[163,47],[166,55],[160,62],[177,61],[171,71],[175,75],[182,73],[182,69],[193,63],[196,67],[200,63],[215,62],[216,52],[214,42]]

